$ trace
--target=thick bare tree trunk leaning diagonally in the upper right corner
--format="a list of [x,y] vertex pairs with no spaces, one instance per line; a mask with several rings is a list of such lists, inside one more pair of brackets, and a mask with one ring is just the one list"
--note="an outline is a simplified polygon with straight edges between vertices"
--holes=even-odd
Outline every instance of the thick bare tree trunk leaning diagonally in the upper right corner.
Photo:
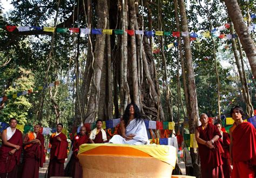
[[242,48],[249,60],[253,76],[256,77],[256,48],[244,22],[237,0],[224,0],[227,6],[228,15],[234,24],[234,29],[241,41]]

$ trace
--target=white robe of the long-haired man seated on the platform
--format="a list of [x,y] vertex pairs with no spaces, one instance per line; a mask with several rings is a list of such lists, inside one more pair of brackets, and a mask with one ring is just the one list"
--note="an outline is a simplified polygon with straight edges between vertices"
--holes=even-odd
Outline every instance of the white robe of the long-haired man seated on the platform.
[[147,138],[146,126],[142,119],[130,121],[129,125],[125,128],[125,135],[128,136],[130,134],[135,135],[132,140],[125,140],[120,135],[114,135],[109,142],[129,145],[148,145],[150,143],[149,138]]

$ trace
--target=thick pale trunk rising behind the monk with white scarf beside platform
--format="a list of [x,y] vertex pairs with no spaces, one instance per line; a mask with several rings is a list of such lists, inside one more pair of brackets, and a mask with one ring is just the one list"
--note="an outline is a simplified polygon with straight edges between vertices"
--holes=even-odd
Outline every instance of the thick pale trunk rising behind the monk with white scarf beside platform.
[[[98,14],[98,29],[106,29],[106,11],[107,2],[105,0],[99,0],[97,4],[97,14]],[[102,77],[102,67],[104,60],[104,49],[105,49],[105,38],[106,35],[97,35],[95,43],[95,60],[92,61],[93,66],[93,78],[92,85],[90,87],[90,98],[87,105],[85,123],[90,123],[95,121],[96,114],[98,112],[98,102],[99,102],[99,92],[100,92],[100,79]]]

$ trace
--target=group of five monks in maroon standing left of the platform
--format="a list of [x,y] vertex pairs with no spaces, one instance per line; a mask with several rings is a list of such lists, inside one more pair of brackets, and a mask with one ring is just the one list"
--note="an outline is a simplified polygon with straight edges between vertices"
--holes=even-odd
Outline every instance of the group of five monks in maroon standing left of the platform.
[[[62,133],[63,125],[57,124],[56,133],[50,136],[50,161],[48,177],[71,176],[82,177],[83,170],[79,164],[77,154],[79,146],[83,143],[103,143],[107,141],[106,132],[102,129],[102,120],[97,120],[97,127],[89,136],[86,135],[86,128],[81,127],[80,133],[73,140],[72,157],[69,170],[64,170],[64,162],[68,157],[69,146],[66,135]],[[10,127],[2,133],[2,146],[0,148],[0,178],[37,178],[39,167],[45,162],[44,136],[39,132],[41,125],[34,126],[34,131],[29,132],[23,139],[22,132],[16,129],[17,120],[9,120]],[[23,160],[20,159],[23,149]],[[65,174],[66,173],[66,174]]]

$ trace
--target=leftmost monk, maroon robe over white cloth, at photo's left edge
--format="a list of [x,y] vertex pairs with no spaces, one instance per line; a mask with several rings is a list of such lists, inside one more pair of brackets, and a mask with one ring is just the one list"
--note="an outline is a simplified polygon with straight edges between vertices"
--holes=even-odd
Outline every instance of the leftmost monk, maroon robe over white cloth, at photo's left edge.
[[3,145],[0,148],[0,177],[16,178],[18,175],[17,165],[21,156],[22,133],[18,129],[17,120],[9,120],[10,127],[2,133]]

